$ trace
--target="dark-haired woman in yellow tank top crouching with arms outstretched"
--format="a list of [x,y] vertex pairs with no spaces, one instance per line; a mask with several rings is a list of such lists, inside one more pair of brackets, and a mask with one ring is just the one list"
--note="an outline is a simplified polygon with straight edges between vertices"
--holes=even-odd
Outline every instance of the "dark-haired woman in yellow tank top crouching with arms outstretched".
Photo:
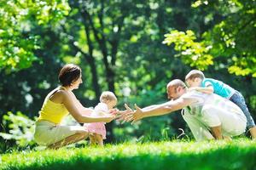
[[34,138],[38,144],[58,149],[67,144],[76,143],[89,136],[89,132],[80,126],[62,126],[61,121],[70,113],[79,122],[111,122],[114,116],[88,116],[93,111],[84,108],[73,94],[73,89],[82,83],[81,69],[78,65],[64,65],[59,73],[61,87],[55,88],[44,99],[39,111]]

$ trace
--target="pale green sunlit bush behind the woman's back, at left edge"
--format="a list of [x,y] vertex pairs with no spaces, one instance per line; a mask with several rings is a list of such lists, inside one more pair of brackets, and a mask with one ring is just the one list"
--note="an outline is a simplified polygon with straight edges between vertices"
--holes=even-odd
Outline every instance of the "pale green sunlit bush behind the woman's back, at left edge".
[[20,147],[35,144],[33,141],[34,120],[31,120],[20,111],[16,114],[8,112],[3,116],[3,126],[8,127],[8,132],[0,133],[5,140],[15,140]]

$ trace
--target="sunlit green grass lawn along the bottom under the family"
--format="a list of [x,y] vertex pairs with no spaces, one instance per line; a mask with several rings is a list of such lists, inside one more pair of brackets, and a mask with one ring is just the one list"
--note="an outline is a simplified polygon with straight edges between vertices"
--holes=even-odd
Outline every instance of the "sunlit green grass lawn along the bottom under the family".
[[256,169],[256,142],[169,141],[28,150],[1,156],[0,169]]

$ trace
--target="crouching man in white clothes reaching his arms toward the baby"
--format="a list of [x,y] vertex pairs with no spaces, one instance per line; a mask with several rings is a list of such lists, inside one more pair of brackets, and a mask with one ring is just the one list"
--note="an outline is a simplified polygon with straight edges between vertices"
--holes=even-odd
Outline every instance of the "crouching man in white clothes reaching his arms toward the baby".
[[136,122],[144,117],[165,115],[184,108],[183,119],[198,141],[223,139],[245,132],[246,116],[230,100],[217,94],[189,91],[185,83],[179,79],[169,82],[166,90],[171,101],[143,109],[135,105],[136,111],[126,116],[126,120]]

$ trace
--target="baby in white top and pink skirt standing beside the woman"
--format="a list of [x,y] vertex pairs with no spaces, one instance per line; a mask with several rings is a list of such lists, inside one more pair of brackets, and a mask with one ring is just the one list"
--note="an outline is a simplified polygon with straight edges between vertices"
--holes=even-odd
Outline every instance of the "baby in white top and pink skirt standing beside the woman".
[[[102,93],[100,97],[100,103],[96,105],[94,112],[91,116],[108,116],[109,110],[117,104],[116,96],[109,91]],[[106,127],[104,122],[91,122],[84,123],[84,127],[91,133],[90,144],[103,145],[103,139],[106,139]]]

